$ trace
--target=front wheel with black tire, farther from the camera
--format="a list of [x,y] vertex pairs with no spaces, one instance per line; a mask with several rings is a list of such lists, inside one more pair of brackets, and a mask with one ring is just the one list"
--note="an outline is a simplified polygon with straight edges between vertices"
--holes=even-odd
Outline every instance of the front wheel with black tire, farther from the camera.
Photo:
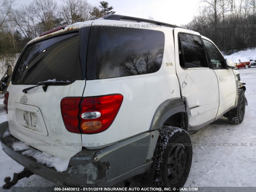
[[245,105],[246,105],[246,98],[244,95],[244,90],[238,90],[238,104],[236,108],[232,109],[228,121],[232,124],[240,124],[244,120],[244,113],[245,113]]

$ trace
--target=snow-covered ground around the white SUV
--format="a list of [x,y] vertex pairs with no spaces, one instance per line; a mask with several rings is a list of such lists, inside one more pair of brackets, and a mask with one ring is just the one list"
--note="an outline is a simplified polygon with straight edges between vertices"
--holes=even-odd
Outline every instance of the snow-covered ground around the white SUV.
[[[256,67],[240,69],[240,76],[246,82],[248,106],[244,121],[240,125],[229,124],[226,118],[191,133],[193,144],[192,167],[185,187],[200,186],[256,186],[256,88],[254,78]],[[6,120],[0,98],[0,122]],[[252,146],[250,146],[252,144]],[[20,172],[23,167],[0,150],[0,186],[6,176]],[[24,178],[16,186],[54,186],[40,176]],[[7,192],[7,190],[4,190]],[[11,188],[8,192],[16,191]]]

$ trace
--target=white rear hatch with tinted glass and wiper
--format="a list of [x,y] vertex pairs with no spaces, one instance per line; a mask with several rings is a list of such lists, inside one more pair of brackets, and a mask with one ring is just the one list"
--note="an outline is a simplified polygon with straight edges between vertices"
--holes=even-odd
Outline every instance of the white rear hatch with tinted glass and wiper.
[[28,44],[8,88],[10,133],[64,159],[82,149],[81,134],[64,125],[60,102],[83,95],[88,34],[89,28],[65,30]]

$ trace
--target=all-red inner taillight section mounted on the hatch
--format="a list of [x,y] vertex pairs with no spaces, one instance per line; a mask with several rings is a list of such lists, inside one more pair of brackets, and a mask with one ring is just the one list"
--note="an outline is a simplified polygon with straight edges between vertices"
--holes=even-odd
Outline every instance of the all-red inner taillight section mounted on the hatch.
[[60,102],[61,114],[66,129],[73,133],[80,133],[79,126],[79,105],[80,97],[66,97]]

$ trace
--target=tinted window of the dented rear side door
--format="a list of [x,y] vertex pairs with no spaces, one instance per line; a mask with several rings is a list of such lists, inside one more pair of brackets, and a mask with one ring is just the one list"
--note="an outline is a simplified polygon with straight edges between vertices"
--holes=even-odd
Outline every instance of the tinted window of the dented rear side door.
[[208,67],[204,46],[199,36],[179,34],[184,61],[180,65],[184,68]]

